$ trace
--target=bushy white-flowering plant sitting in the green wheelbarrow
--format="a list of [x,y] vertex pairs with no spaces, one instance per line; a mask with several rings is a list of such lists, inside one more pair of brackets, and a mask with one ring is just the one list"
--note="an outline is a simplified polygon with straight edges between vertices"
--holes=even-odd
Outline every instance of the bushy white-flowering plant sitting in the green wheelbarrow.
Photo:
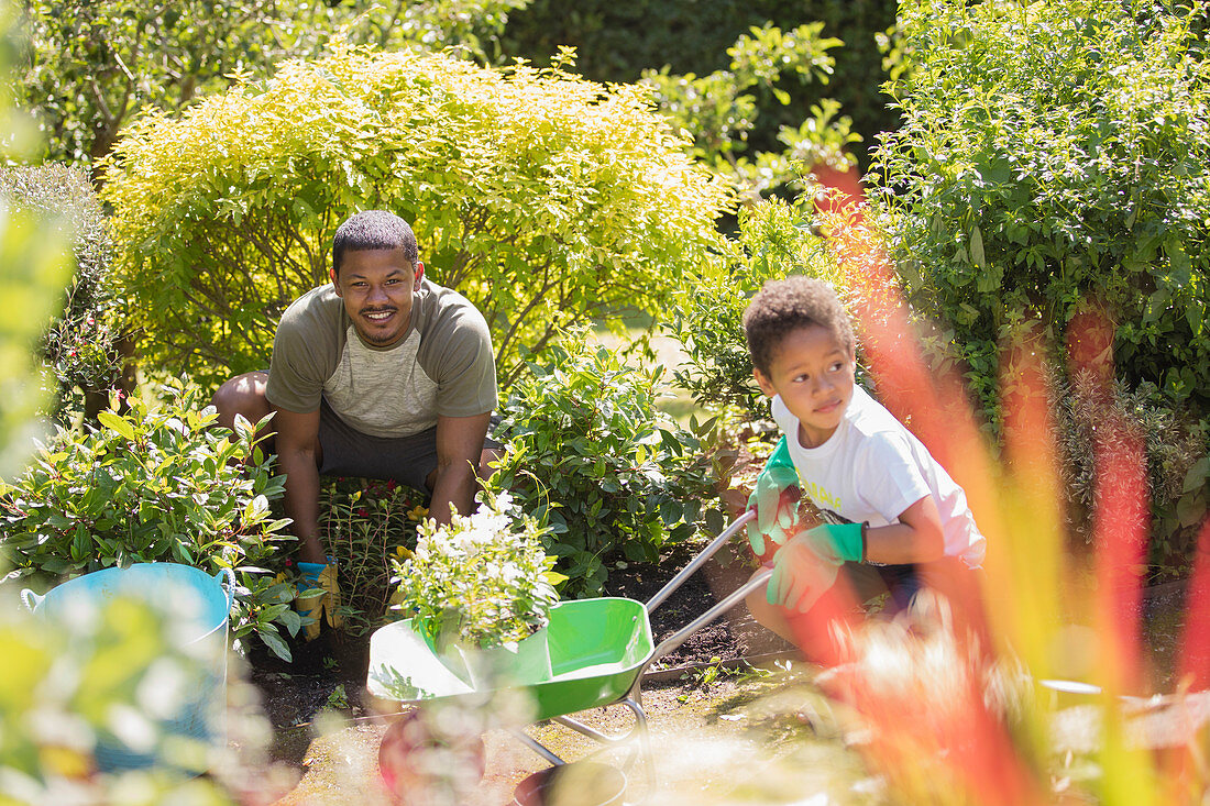
[[440,641],[513,645],[546,626],[566,577],[542,547],[548,529],[513,506],[508,493],[480,493],[471,516],[438,526],[426,519],[416,551],[394,562],[404,615]]

